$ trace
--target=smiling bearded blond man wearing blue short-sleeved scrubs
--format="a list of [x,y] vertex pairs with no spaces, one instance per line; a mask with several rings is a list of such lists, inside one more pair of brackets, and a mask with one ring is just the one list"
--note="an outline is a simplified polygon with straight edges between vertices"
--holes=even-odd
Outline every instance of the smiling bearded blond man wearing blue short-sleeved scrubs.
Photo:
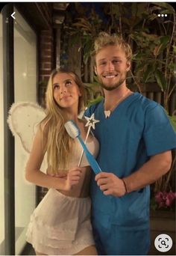
[[169,171],[176,138],[162,106],[126,85],[131,47],[101,32],[95,40],[95,73],[104,100],[95,114],[102,172],[92,179],[92,225],[101,255],[147,255],[149,184]]

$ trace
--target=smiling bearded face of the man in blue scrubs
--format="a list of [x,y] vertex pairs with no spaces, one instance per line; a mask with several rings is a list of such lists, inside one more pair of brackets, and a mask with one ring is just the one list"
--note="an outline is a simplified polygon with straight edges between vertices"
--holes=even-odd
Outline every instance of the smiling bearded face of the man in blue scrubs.
[[119,46],[106,46],[95,56],[95,73],[101,86],[107,91],[118,88],[125,82],[131,64]]

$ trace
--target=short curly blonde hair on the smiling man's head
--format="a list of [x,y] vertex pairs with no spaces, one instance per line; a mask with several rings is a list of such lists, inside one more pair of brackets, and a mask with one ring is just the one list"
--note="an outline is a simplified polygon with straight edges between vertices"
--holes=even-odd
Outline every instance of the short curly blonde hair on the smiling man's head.
[[106,46],[119,46],[123,49],[128,61],[131,61],[132,50],[131,46],[119,37],[117,34],[107,34],[106,32],[100,32],[98,37],[95,39],[93,55],[97,55],[98,52]]

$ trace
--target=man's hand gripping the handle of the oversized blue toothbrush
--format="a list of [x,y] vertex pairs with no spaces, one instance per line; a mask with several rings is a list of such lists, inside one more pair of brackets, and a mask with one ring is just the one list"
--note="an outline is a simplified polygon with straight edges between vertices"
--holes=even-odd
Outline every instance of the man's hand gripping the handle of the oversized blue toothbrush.
[[115,174],[102,171],[95,176],[95,180],[104,195],[114,195],[116,197],[125,195],[125,184]]

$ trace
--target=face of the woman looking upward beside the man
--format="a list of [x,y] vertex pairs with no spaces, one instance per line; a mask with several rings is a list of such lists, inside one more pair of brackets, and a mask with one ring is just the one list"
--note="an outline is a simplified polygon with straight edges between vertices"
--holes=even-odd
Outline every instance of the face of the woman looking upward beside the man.
[[57,104],[66,108],[77,108],[81,91],[72,75],[57,73],[53,78],[53,96]]

